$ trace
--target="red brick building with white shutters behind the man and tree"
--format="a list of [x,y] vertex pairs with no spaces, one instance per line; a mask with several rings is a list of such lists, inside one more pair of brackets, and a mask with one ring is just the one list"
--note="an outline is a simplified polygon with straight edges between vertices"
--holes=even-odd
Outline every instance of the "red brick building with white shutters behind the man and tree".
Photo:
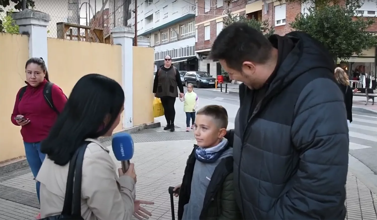
[[[344,4],[341,1],[340,4]],[[195,50],[199,57],[199,70],[207,71],[215,76],[221,74],[221,66],[217,62],[207,59],[210,47],[217,34],[221,31],[222,20],[226,15],[226,9],[230,8],[233,14],[246,14],[248,18],[254,17],[258,20],[268,20],[274,27],[275,34],[285,35],[293,31],[290,23],[299,13],[305,13],[310,7],[310,3],[286,3],[285,0],[233,0],[229,6],[223,0],[198,0],[198,15],[195,19],[196,26],[196,46]],[[377,16],[377,6],[375,2],[366,1],[364,5],[356,10],[356,13],[364,17]],[[377,21],[377,18],[375,18]],[[377,22],[369,27],[368,31],[377,32]],[[376,49],[372,47],[365,51],[362,56],[354,56],[345,63],[345,69],[352,75],[355,69],[361,68],[373,78],[376,77]]]

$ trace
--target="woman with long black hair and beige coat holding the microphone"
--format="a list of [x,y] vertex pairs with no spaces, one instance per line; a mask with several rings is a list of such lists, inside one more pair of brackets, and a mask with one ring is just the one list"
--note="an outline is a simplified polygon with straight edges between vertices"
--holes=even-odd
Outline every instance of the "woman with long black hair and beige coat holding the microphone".
[[[83,142],[90,142],[82,163],[81,216],[84,220],[130,220],[134,213],[136,174],[133,164],[118,170],[98,138],[111,136],[124,110],[118,82],[99,74],[83,76],[42,142],[47,155],[38,173],[41,217],[62,212],[69,162]],[[135,208],[139,203],[135,203]]]

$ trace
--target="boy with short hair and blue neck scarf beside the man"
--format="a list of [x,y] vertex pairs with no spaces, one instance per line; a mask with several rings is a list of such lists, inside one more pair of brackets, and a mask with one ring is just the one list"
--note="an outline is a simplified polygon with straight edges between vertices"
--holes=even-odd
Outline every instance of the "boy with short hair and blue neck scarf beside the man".
[[[179,189],[178,220],[239,220],[233,195],[233,148],[224,138],[228,113],[207,105],[196,113],[197,145],[187,160]],[[178,196],[178,194],[175,194]]]

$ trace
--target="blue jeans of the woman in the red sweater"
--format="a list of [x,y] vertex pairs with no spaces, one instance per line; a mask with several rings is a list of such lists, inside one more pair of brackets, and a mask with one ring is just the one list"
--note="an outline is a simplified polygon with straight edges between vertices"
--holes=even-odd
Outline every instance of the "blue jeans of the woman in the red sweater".
[[[39,169],[42,166],[45,154],[41,153],[41,142],[28,143],[24,141],[26,160],[28,160],[29,167],[33,173],[34,178],[37,177]],[[39,200],[40,182],[35,181],[35,188],[37,189],[37,196]]]

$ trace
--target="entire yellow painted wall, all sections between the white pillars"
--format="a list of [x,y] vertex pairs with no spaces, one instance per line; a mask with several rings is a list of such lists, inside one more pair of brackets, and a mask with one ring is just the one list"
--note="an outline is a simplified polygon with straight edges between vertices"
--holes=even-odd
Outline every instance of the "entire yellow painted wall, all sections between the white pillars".
[[[29,59],[28,36],[0,33],[0,162],[25,156],[20,127],[11,122],[15,96],[25,86],[25,63]],[[153,119],[152,73],[154,51],[133,47],[133,124]],[[83,75],[99,73],[122,84],[121,46],[48,38],[48,72],[52,82],[69,96]],[[122,119],[116,131],[123,129]]]

